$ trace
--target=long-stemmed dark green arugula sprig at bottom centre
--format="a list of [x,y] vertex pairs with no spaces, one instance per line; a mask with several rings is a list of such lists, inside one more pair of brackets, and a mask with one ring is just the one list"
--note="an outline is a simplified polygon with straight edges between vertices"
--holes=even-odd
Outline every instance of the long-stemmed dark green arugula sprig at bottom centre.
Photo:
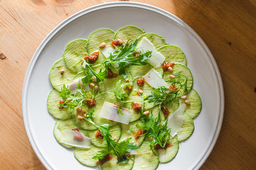
[[118,158],[118,163],[123,164],[125,162],[128,162],[131,158],[126,157],[125,153],[131,152],[131,150],[136,150],[140,149],[139,146],[133,144],[132,142],[130,143],[131,138],[127,138],[124,141],[117,143],[115,142],[114,139],[112,139],[111,134],[109,133],[109,124],[103,124],[103,125],[98,125],[94,123],[91,119],[92,114],[94,110],[89,113],[89,117],[87,118],[84,116],[83,118],[90,123],[92,123],[94,126],[96,126],[100,131],[101,134],[104,136],[104,140],[106,141],[106,148],[103,149],[102,151],[98,151],[99,153],[96,154],[96,156],[93,157],[93,159],[102,159],[105,155],[109,153],[113,153],[115,156]]

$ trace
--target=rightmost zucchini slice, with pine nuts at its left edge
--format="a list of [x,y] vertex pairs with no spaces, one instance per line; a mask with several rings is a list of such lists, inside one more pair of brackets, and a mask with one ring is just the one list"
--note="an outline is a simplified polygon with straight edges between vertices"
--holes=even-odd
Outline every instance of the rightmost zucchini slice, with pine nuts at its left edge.
[[179,102],[180,104],[183,104],[185,100],[188,100],[190,102],[190,105],[187,105],[187,107],[185,108],[185,112],[189,114],[192,118],[195,118],[195,116],[197,116],[202,109],[201,98],[198,95],[197,91],[195,91],[195,89],[191,89],[186,96],[186,99],[179,98]]

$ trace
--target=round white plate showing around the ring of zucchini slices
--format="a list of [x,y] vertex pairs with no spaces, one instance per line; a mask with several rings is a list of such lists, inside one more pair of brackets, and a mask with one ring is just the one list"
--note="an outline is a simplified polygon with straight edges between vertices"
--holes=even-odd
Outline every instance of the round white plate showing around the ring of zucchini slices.
[[22,92],[22,112],[28,138],[36,155],[49,170],[93,169],[80,164],[73,149],[59,144],[53,135],[55,120],[47,110],[52,86],[48,74],[62,57],[68,42],[85,38],[100,28],[117,31],[127,25],[163,36],[180,47],[187,58],[193,88],[202,99],[202,111],[194,119],[195,130],[180,143],[176,157],[157,170],[199,169],[209,156],[220,132],[224,112],[224,92],[216,62],[203,40],[179,18],[154,6],[115,2],[92,6],[64,20],[44,39],[28,66]]

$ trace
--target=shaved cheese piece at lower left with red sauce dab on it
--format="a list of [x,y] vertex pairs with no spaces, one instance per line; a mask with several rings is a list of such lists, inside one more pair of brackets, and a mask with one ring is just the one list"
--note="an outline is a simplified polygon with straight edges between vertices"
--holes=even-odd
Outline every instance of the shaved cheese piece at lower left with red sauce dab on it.
[[74,147],[80,148],[90,148],[91,147],[91,138],[86,137],[83,133],[79,132],[83,141],[74,140],[74,136],[78,136],[74,130],[65,129],[60,136],[60,142],[64,144],[69,144]]

